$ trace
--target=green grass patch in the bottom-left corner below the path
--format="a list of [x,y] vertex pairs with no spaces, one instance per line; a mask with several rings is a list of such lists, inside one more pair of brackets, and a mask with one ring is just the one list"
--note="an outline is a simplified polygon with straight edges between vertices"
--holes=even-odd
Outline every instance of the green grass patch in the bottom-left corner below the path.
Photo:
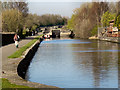
[[30,88],[30,87],[12,84],[7,79],[2,78],[2,88]]

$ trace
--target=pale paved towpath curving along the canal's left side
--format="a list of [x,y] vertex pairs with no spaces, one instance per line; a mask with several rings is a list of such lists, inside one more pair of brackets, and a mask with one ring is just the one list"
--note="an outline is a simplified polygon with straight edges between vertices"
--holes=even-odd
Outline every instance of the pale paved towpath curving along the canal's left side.
[[[38,33],[38,35],[41,35],[41,34],[42,33]],[[30,37],[27,37],[26,39],[22,39],[19,42],[19,48],[29,43],[36,36],[30,36]],[[2,46],[0,48],[0,55],[2,56],[1,58],[2,60],[0,60],[1,61],[0,63],[2,63],[0,64],[2,68],[1,69],[2,74],[0,75],[0,77],[7,78],[11,83],[17,84],[17,85],[24,85],[24,86],[29,86],[33,88],[56,88],[54,86],[48,86],[48,85],[26,81],[22,79],[21,77],[19,77],[17,74],[17,66],[22,60],[22,58],[15,58],[15,59],[8,58],[8,56],[13,54],[16,50],[17,48],[15,47],[14,43],[6,45],[6,46]]]

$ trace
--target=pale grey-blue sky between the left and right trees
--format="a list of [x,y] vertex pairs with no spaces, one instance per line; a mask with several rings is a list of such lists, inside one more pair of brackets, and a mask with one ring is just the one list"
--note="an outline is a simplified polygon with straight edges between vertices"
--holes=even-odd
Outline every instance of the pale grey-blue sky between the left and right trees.
[[79,8],[83,2],[29,2],[29,13],[43,14],[59,14],[65,17],[71,17],[73,10]]

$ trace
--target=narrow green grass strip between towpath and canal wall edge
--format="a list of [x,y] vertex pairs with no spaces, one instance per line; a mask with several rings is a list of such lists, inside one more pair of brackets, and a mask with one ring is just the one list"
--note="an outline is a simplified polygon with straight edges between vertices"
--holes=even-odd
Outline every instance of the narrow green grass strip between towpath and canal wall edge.
[[[40,36],[42,36],[42,35],[40,35]],[[30,41],[25,46],[23,46],[20,49],[18,49],[15,53],[13,53],[12,55],[8,56],[8,58],[19,58],[23,54],[24,51],[26,51],[29,47],[31,47],[40,38],[40,36],[36,37],[35,39]]]

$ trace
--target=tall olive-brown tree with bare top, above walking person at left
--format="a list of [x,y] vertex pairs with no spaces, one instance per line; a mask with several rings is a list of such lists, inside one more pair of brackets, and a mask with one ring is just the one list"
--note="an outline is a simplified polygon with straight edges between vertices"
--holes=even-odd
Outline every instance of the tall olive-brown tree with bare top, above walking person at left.
[[3,31],[10,31],[10,32],[17,31],[21,36],[23,27],[26,21],[25,18],[28,15],[27,3],[19,2],[16,0],[13,0],[13,2],[3,2],[2,12],[3,12],[2,14],[3,15]]

